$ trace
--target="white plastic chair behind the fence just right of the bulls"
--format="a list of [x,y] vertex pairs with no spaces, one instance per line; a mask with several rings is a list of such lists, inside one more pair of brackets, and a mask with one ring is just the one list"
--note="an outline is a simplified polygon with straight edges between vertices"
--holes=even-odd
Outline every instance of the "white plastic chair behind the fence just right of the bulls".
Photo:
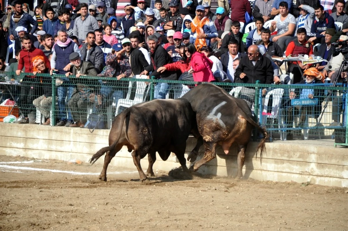
[[[264,105],[263,105],[263,114],[262,116],[262,124],[266,125],[267,118],[272,119],[271,126],[273,127],[274,125],[274,120],[278,120],[278,128],[279,128],[279,133],[282,134],[281,127],[280,127],[280,122],[282,121],[280,118],[280,104],[282,103],[282,97],[284,94],[284,89],[283,88],[275,88],[271,91],[269,91],[266,94],[266,97],[264,99]],[[272,110],[271,114],[267,115],[267,108],[268,108],[268,101],[270,96],[272,95],[273,101],[272,101]],[[270,131],[270,137],[272,137],[272,130]],[[280,136],[282,137],[282,136]]]

